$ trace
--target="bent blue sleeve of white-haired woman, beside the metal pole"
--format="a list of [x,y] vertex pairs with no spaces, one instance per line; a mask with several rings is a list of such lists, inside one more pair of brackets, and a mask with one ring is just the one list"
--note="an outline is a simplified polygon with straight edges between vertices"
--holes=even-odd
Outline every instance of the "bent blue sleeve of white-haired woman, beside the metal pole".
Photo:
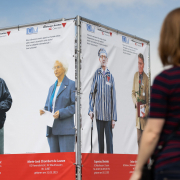
[[75,114],[75,82],[73,81],[71,85],[70,97],[71,104],[65,108],[59,109],[60,119],[65,119]]

